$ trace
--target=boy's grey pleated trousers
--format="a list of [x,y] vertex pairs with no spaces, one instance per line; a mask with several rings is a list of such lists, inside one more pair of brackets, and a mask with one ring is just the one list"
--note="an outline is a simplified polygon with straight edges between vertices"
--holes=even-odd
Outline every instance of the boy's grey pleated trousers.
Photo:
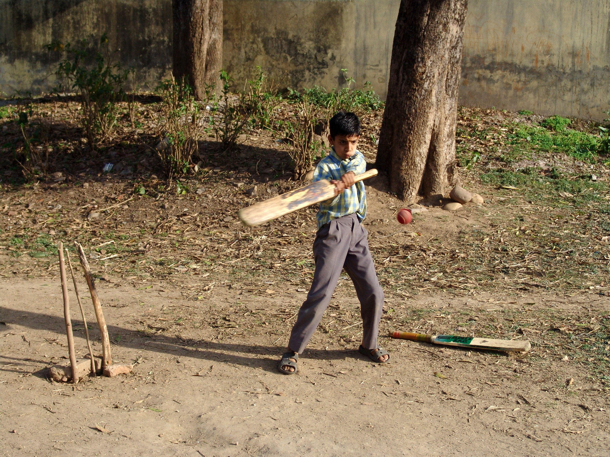
[[356,214],[320,227],[314,241],[314,281],[292,328],[290,350],[302,353],[305,349],[328,307],[343,268],[354,282],[360,300],[362,345],[376,349],[384,295],[368,250],[367,236]]

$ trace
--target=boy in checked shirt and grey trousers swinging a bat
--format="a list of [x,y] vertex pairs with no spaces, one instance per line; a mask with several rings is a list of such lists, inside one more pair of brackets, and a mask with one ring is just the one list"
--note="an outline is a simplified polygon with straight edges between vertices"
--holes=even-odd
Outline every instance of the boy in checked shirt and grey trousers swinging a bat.
[[364,332],[359,352],[377,363],[390,360],[389,353],[377,345],[384,294],[368,250],[368,233],[361,225],[367,214],[367,196],[364,183],[354,182],[354,176],[364,173],[367,165],[356,149],[360,119],[354,113],[339,112],[329,127],[332,148],[315,168],[314,182],[328,179],[336,186],[335,196],[321,202],[318,210],[314,280],[290,333],[288,352],[278,363],[278,370],[287,375],[298,369],[299,354],[320,324],[343,268],[354,282],[361,305]]

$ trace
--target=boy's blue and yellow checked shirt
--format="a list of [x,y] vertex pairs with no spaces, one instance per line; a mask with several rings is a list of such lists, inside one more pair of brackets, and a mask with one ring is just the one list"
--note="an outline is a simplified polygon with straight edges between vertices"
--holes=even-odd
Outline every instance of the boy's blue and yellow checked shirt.
[[[313,182],[321,179],[341,179],[342,175],[353,171],[354,174],[361,174],[367,171],[367,162],[364,160],[362,152],[356,150],[356,154],[349,160],[341,160],[334,148],[329,155],[320,160],[314,171]],[[318,228],[348,214],[356,213],[359,221],[362,222],[367,215],[367,194],[364,191],[362,181],[355,183],[336,197],[320,203],[318,210]]]

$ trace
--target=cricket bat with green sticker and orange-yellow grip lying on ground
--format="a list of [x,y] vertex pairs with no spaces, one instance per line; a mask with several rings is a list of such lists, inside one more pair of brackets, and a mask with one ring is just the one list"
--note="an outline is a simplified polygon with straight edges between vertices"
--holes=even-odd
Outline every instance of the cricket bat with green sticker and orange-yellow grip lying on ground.
[[504,352],[528,352],[531,349],[529,341],[514,341],[512,339],[474,338],[473,336],[426,335],[426,333],[409,333],[407,331],[391,331],[392,338],[411,339],[447,346],[467,347],[469,349],[485,349]]

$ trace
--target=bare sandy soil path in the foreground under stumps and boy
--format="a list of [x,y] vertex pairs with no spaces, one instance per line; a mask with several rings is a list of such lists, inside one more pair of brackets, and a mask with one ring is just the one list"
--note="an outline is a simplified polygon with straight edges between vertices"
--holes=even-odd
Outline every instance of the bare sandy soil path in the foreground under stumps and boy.
[[[254,319],[257,310],[265,321],[266,313],[298,309],[302,293],[237,297],[219,288],[193,302],[166,287],[99,283],[113,357],[136,365],[130,375],[88,378],[74,388],[46,379],[46,367],[67,353],[57,278],[0,283],[4,455],[605,456],[610,448],[607,390],[559,356],[467,353],[382,338],[392,363],[377,366],[357,354],[357,342],[331,342],[318,331],[300,372],[286,376],[275,366],[290,322],[278,338]],[[590,296],[511,301],[487,313],[609,311],[607,300]],[[357,306],[348,296],[343,304]],[[432,319],[439,310],[476,314],[490,306],[485,294],[411,303]],[[205,320],[210,310],[223,322],[250,317],[234,324],[235,335],[212,325],[146,333],[151,325],[141,323],[154,319],[154,331],[176,313]],[[74,324],[84,356],[84,331]]]

